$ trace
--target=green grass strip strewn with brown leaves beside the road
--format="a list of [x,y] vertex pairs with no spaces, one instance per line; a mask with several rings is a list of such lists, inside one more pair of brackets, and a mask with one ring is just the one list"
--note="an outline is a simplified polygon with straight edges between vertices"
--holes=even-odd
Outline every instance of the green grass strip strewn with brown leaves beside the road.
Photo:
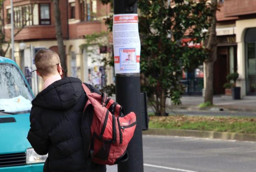
[[186,117],[182,115],[170,115],[169,117],[151,116],[149,127],[255,134],[255,121],[256,118]]

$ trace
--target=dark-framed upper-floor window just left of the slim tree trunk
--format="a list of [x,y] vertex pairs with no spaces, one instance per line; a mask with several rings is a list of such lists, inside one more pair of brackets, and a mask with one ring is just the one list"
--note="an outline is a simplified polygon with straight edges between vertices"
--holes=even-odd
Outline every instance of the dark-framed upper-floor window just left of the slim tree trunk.
[[51,24],[50,21],[50,4],[40,4],[39,8],[39,24]]

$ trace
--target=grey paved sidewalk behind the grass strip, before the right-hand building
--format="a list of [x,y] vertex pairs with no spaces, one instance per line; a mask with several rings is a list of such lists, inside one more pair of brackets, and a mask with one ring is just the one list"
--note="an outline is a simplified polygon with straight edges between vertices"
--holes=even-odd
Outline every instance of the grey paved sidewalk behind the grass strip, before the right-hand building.
[[181,98],[182,105],[170,105],[168,108],[173,110],[187,110],[187,111],[246,111],[256,112],[256,96],[245,96],[241,100],[232,100],[231,96],[214,96],[212,107],[200,108],[199,104],[204,102],[201,96],[183,96]]

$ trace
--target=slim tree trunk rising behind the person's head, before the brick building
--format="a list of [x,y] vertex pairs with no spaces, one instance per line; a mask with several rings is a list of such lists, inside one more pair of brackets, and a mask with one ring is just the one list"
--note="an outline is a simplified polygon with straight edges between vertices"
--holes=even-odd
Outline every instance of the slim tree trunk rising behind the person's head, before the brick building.
[[60,18],[60,9],[59,9],[59,0],[53,0],[54,11],[55,11],[55,30],[56,30],[56,38],[58,42],[58,51],[60,55],[60,63],[64,70],[64,76],[66,76],[67,68],[66,68],[66,51],[63,43],[62,36],[62,28],[61,28],[61,18]]

